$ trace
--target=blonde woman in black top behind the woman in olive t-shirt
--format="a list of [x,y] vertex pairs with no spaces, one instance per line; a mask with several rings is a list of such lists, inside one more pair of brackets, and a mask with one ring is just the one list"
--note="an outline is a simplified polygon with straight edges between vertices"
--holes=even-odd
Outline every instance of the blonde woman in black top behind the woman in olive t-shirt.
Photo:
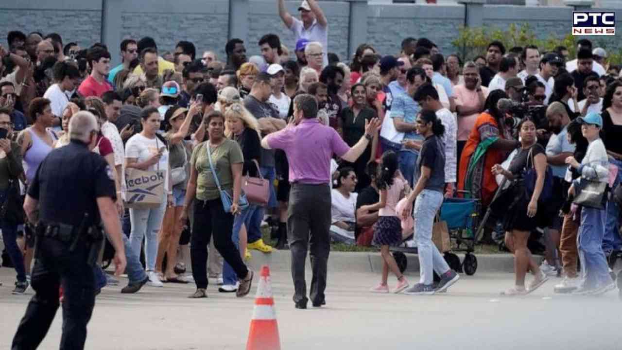
[[[261,159],[261,132],[259,123],[255,117],[241,103],[232,103],[225,111],[225,136],[236,141],[244,155],[242,176],[259,176],[259,161]],[[233,220],[233,234],[231,239],[238,247],[240,255],[244,258],[246,252],[246,227],[248,227],[253,213],[258,209],[256,205],[249,205],[236,215]],[[238,290],[238,277],[233,268],[225,262],[223,265],[224,284],[218,288],[221,292],[233,292]]]

